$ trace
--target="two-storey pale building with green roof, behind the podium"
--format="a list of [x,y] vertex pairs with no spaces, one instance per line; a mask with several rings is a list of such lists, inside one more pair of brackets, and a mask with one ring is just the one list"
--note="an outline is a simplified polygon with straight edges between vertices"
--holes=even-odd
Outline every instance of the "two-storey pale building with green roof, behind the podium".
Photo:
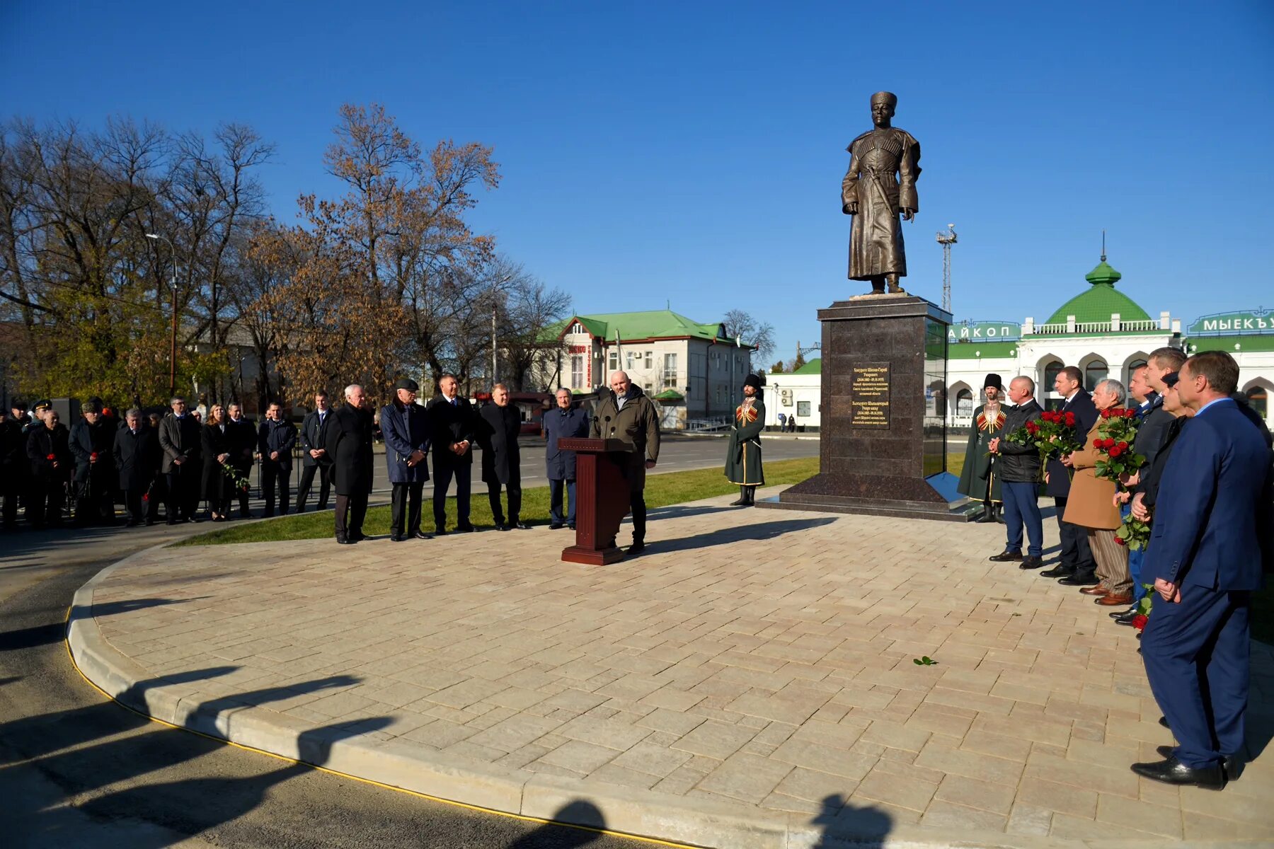
[[536,384],[585,395],[624,370],[659,402],[668,429],[730,416],[755,350],[731,339],[722,322],[697,322],[671,309],[576,314],[550,335],[562,347]]

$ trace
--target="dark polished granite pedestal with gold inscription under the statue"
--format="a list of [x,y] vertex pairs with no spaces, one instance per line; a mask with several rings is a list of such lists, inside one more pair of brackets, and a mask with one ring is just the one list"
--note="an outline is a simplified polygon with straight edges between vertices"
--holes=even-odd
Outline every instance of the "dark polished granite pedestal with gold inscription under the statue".
[[980,504],[947,471],[950,313],[913,295],[860,295],[823,323],[819,474],[757,507],[967,522]]

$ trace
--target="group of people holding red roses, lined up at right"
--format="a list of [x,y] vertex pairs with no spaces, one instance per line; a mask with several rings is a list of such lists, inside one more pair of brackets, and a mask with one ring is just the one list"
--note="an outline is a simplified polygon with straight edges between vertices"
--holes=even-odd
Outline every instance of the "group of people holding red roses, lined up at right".
[[[999,383],[998,375],[987,377],[991,407],[999,406]],[[1003,502],[1006,544],[990,560],[1024,570],[1043,566],[1042,486],[1056,508],[1061,552],[1038,574],[1117,608],[1111,617],[1120,625],[1144,626],[1139,650],[1147,677],[1163,710],[1161,723],[1178,745],[1161,747],[1162,761],[1133,770],[1212,789],[1242,768],[1251,593],[1263,572],[1274,570],[1271,437],[1237,384],[1238,365],[1224,351],[1187,358],[1162,347],[1133,372],[1127,387],[1103,379],[1089,393],[1078,368],[1061,369],[1054,391],[1064,401],[1056,410],[1073,423],[1082,447],[1049,457],[1042,467],[1034,446],[1005,438],[1043,412],[1028,377],[1009,382],[1012,406],[1003,407],[998,428],[971,437],[989,437],[994,458],[975,496],[990,499],[996,477]],[[1138,419],[1125,456],[1144,462],[1116,482],[1096,470],[1108,452],[1097,442],[1102,421],[1119,415]],[[1116,538],[1129,517],[1149,523],[1144,549],[1130,551]],[[1139,620],[1148,592],[1153,603],[1148,619]]]

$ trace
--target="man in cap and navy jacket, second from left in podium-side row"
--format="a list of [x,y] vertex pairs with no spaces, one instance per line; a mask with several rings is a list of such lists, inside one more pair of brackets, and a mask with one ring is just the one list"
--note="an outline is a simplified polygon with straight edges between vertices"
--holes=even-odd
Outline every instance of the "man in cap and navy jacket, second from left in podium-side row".
[[385,465],[392,488],[390,540],[428,540],[420,530],[420,494],[429,480],[429,414],[415,402],[419,384],[409,377],[394,384],[394,401],[381,407]]

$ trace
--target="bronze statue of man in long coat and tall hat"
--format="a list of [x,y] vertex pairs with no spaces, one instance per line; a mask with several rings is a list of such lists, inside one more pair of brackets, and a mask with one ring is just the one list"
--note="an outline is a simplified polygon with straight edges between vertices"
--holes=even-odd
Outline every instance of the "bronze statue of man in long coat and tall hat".
[[920,210],[920,143],[891,126],[898,98],[889,92],[871,95],[869,130],[850,143],[850,171],[841,183],[841,204],[854,216],[850,227],[850,280],[870,280],[873,294],[902,293],[898,277],[907,276],[902,223]]

